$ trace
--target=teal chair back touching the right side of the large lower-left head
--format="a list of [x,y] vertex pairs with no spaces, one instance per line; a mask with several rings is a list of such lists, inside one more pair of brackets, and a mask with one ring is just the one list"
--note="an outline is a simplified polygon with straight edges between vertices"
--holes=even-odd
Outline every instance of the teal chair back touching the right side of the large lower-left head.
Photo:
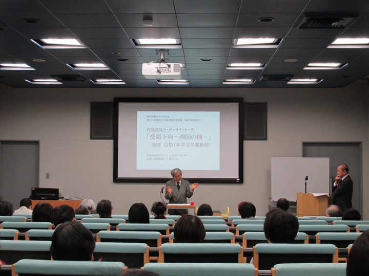
[[150,262],[146,243],[97,242],[94,261],[122,262],[128,268],[140,268]]

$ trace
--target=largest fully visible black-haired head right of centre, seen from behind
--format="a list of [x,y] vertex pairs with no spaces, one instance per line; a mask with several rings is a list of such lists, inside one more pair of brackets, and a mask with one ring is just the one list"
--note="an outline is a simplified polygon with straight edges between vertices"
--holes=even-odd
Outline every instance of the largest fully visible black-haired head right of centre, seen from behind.
[[298,232],[295,215],[278,208],[271,209],[264,220],[264,234],[271,243],[293,243]]

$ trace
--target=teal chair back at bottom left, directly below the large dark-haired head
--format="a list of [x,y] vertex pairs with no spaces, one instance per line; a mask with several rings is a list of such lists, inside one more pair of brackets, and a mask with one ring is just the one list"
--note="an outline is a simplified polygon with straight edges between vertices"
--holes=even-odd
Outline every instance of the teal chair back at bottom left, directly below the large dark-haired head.
[[120,276],[127,271],[120,262],[20,260],[13,264],[13,276],[80,275]]

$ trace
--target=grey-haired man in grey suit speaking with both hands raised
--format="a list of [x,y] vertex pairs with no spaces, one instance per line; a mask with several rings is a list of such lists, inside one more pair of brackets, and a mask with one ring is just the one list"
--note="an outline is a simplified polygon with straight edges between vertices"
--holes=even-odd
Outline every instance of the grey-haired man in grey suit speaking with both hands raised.
[[[172,180],[166,183],[166,195],[165,198],[169,199],[169,204],[183,204],[187,203],[187,198],[192,197],[194,189],[198,187],[198,183],[193,183],[182,179],[182,171],[175,168],[171,171],[173,176]],[[186,215],[188,214],[187,209],[169,209],[169,215]]]

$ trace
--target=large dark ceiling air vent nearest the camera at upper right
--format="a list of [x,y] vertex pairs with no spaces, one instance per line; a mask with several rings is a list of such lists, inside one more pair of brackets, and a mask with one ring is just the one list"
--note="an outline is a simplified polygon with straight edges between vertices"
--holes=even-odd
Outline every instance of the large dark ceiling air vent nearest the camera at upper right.
[[343,29],[357,14],[305,13],[299,29]]

